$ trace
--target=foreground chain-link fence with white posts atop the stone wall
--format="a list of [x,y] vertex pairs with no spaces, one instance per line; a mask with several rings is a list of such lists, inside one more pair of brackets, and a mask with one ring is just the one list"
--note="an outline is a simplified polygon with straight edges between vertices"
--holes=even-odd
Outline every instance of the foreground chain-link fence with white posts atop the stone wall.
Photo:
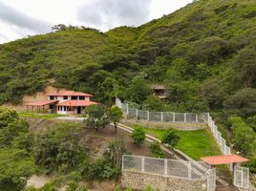
[[156,159],[131,155],[124,155],[122,158],[122,170],[188,180],[202,179],[209,169],[210,167],[203,161]]

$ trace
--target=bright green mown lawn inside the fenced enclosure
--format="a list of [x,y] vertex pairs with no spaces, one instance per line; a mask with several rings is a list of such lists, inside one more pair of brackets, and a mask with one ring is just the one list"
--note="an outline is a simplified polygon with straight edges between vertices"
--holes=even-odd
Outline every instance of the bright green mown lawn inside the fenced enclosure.
[[[144,128],[145,132],[155,138],[161,138],[166,130]],[[177,149],[192,159],[222,155],[217,143],[207,129],[195,131],[178,131],[181,137]]]

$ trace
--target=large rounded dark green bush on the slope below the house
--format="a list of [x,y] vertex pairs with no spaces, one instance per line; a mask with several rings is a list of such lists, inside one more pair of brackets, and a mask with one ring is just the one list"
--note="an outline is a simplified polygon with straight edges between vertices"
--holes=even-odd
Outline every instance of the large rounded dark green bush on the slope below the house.
[[52,130],[40,134],[34,143],[34,159],[46,169],[69,172],[86,159],[86,151],[80,142],[79,129],[74,124],[61,123]]

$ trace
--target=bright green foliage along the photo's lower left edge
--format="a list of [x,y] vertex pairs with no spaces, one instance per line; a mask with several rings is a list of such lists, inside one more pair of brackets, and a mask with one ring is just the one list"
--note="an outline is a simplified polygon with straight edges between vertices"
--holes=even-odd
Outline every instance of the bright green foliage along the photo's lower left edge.
[[35,173],[29,125],[12,110],[0,108],[0,191],[20,191]]

